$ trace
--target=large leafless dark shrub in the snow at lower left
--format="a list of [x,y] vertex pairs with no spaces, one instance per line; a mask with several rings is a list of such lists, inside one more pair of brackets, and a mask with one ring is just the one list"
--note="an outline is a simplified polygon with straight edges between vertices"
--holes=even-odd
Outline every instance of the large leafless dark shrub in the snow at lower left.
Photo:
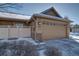
[[26,40],[0,41],[0,55],[2,56],[34,56],[38,55],[36,46]]

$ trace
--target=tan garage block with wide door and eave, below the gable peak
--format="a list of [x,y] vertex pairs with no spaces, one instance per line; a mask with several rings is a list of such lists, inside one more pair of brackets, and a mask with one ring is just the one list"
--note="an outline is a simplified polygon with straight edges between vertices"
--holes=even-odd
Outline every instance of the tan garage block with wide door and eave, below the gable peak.
[[35,14],[33,16],[35,28],[33,33],[34,39],[49,40],[68,38],[70,21],[64,18],[52,17],[44,14]]

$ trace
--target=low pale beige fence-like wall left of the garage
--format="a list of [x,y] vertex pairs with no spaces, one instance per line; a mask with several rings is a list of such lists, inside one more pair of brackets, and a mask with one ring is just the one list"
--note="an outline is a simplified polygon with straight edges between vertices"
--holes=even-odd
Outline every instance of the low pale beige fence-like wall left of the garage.
[[0,38],[31,37],[31,28],[0,28]]

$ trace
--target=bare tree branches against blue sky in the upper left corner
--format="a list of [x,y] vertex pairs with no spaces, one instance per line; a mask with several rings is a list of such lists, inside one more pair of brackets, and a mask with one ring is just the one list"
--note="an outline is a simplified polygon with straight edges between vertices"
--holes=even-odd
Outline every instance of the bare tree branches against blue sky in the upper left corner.
[[20,8],[22,8],[22,6],[17,3],[0,3],[0,11],[10,12],[9,9],[11,8],[19,10]]

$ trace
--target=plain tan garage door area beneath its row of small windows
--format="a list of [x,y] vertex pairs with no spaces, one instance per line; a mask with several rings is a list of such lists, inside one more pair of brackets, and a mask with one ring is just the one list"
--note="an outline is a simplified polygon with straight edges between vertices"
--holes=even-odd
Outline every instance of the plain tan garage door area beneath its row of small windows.
[[43,39],[66,37],[66,27],[65,26],[53,26],[53,27],[44,26],[42,37]]

